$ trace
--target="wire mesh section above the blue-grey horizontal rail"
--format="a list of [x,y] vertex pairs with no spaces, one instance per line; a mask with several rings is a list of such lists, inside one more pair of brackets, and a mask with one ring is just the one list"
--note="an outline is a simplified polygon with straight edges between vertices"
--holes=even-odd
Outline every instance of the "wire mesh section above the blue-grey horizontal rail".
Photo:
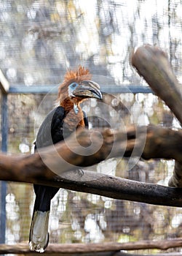
[[67,68],[138,83],[132,49],[143,43],[167,50],[181,76],[180,0],[4,1],[1,69],[12,84],[57,84]]

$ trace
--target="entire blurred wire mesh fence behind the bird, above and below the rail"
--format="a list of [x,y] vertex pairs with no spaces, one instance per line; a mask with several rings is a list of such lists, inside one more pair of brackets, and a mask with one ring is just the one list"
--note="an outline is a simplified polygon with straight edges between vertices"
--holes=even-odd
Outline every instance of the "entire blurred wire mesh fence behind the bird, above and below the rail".
[[[121,94],[114,86],[146,86],[130,67],[132,50],[143,43],[165,49],[181,80],[181,8],[180,0],[1,0],[0,67],[10,86],[54,87],[63,80],[66,69],[85,65],[103,88],[111,87],[111,93],[104,95],[104,105],[90,100],[82,106],[91,128],[125,129],[135,123],[178,129],[178,121],[154,94]],[[56,97],[51,91],[8,95],[8,154],[33,153],[39,125]],[[108,159],[90,170],[167,185],[173,165],[165,160],[140,160],[135,165],[130,161],[129,165],[121,158]],[[28,241],[33,199],[31,185],[8,183],[7,244]],[[175,238],[181,236],[181,217],[181,208],[60,189],[52,200],[50,242]]]

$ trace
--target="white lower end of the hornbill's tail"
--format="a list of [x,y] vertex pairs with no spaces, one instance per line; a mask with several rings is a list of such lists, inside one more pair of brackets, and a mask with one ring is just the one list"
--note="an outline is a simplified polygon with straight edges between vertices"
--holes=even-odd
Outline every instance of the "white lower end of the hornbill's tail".
[[31,221],[29,246],[31,251],[44,252],[49,242],[50,211],[35,211]]

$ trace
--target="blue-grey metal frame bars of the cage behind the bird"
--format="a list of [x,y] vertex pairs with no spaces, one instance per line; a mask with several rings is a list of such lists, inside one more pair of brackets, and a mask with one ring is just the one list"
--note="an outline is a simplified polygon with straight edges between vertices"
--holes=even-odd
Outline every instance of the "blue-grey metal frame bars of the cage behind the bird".
[[[100,86],[101,91],[109,94],[149,94],[153,91],[148,86],[141,85],[122,85],[122,86]],[[47,94],[56,93],[58,86],[9,86],[7,79],[4,77],[0,70],[0,89],[1,89],[1,151],[7,152],[8,141],[8,106],[7,96],[8,94]],[[0,244],[5,244],[6,238],[6,195],[7,195],[7,182],[1,182],[1,203],[0,203]]]

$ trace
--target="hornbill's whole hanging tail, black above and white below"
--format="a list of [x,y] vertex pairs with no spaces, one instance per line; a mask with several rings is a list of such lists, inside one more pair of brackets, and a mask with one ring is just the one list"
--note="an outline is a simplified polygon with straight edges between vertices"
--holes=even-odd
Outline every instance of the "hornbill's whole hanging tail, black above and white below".
[[33,185],[36,200],[31,220],[29,247],[31,251],[44,252],[49,243],[49,217],[52,197],[58,192],[58,188]]

